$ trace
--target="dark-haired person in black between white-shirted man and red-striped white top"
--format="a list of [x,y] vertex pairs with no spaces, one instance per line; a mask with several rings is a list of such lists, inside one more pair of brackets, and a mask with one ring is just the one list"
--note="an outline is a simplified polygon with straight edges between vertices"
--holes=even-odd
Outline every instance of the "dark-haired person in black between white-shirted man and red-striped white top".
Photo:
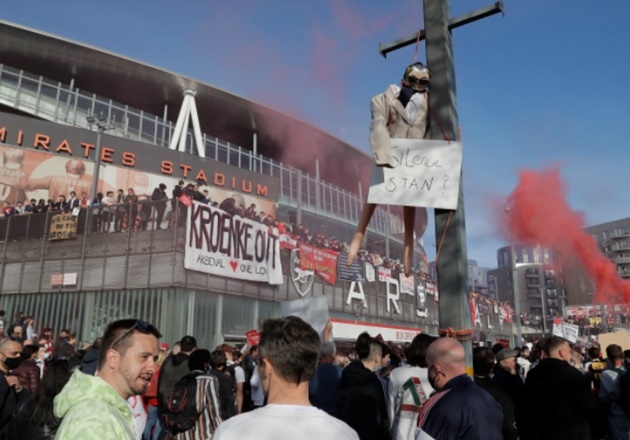
[[361,333],[355,350],[359,359],[341,373],[337,416],[357,431],[361,440],[389,440],[385,392],[375,374],[382,368],[383,346]]

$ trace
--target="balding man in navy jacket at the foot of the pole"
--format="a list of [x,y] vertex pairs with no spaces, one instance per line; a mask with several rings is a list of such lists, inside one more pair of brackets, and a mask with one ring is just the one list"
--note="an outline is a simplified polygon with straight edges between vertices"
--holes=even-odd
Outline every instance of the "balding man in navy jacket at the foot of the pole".
[[466,374],[463,345],[439,338],[429,345],[426,361],[437,393],[422,406],[416,440],[502,440],[501,406]]

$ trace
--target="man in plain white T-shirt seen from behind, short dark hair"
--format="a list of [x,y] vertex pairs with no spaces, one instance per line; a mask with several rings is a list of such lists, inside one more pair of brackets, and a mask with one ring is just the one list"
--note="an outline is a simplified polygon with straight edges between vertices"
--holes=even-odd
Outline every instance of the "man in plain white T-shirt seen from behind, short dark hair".
[[359,440],[348,425],[308,400],[308,382],[320,351],[313,327],[295,316],[268,319],[262,325],[258,350],[267,405],[223,422],[213,440]]

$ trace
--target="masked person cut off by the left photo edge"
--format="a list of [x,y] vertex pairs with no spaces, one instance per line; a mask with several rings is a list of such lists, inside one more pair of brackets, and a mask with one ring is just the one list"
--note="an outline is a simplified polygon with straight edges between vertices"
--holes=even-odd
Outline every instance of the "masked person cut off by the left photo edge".
[[[29,397],[19,379],[11,374],[22,363],[22,344],[9,338],[0,340],[0,438],[16,438],[9,426],[22,400]],[[12,425],[12,424],[11,424]]]

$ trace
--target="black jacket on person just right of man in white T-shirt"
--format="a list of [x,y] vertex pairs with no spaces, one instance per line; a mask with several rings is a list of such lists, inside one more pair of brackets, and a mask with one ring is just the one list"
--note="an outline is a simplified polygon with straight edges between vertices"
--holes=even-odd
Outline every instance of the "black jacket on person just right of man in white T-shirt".
[[341,373],[338,399],[338,417],[361,440],[390,438],[383,385],[360,361],[352,361]]

